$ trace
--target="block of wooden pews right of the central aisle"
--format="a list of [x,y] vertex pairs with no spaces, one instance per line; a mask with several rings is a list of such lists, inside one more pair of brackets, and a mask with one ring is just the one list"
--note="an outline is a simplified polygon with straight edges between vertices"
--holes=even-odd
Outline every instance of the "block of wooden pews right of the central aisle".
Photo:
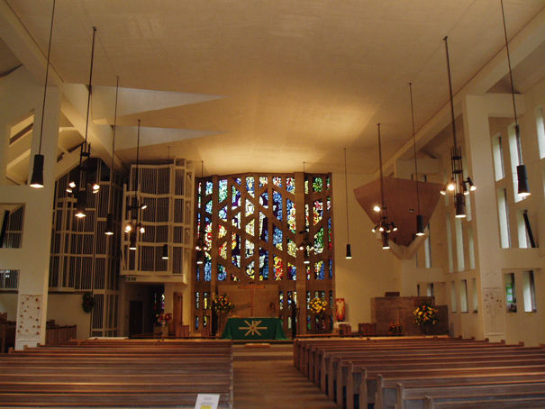
[[297,339],[294,364],[340,408],[545,407],[543,346],[449,337]]

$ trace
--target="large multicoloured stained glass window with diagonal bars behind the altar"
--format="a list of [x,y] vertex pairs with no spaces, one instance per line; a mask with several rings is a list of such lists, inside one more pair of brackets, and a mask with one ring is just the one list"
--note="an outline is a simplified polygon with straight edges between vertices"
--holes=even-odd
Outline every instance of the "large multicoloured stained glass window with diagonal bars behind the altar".
[[[327,330],[334,279],[331,177],[250,173],[204,177],[195,186],[196,231],[204,230],[206,244],[204,264],[194,260],[195,330],[197,323],[202,330],[211,322],[204,304],[218,293],[218,286],[250,281],[277,288],[277,311],[285,330],[295,325],[295,303],[303,305],[298,331]],[[310,250],[306,258],[299,250],[303,242]],[[298,295],[297,289],[302,290]],[[317,323],[316,317],[305,308],[313,295],[329,295],[325,317],[317,325],[311,324]]]

